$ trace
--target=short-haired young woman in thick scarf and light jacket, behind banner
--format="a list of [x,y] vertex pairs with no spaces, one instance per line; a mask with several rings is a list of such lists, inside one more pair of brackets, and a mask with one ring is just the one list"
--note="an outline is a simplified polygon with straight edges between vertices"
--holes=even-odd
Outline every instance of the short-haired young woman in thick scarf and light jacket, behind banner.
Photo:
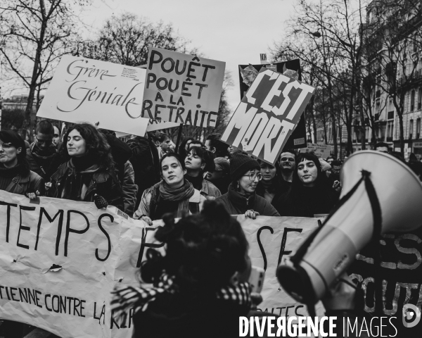
[[160,160],[162,181],[143,192],[139,208],[134,213],[135,219],[152,224],[160,220],[165,213],[181,217],[185,213],[198,213],[205,197],[185,180],[186,168],[177,154],[165,154]]

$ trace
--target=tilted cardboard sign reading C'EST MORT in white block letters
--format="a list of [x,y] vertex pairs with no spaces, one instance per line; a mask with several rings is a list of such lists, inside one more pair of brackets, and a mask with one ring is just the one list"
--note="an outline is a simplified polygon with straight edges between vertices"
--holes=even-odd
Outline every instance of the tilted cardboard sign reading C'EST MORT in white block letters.
[[294,77],[262,68],[221,140],[274,165],[314,90]]

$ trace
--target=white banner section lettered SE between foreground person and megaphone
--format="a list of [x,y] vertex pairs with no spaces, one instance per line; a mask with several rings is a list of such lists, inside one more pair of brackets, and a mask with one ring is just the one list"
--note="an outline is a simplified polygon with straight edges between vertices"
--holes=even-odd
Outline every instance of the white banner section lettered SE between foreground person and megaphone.
[[[279,263],[291,256],[300,244],[318,227],[316,218],[258,216],[255,220],[238,215],[246,239],[249,242],[249,256],[252,265],[265,270],[262,303],[258,309],[286,317],[307,316],[302,303],[291,298],[280,286],[276,276]],[[322,315],[321,303],[316,305],[316,314]]]

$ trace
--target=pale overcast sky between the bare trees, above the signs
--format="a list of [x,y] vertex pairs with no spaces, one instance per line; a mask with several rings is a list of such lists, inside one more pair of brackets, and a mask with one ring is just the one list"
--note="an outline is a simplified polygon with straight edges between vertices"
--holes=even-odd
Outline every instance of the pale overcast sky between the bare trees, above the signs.
[[269,56],[293,13],[293,0],[96,0],[82,20],[99,28],[125,11],[172,23],[205,57],[226,62],[234,80],[227,93],[234,110],[241,99],[238,65],[259,64],[260,53]]

